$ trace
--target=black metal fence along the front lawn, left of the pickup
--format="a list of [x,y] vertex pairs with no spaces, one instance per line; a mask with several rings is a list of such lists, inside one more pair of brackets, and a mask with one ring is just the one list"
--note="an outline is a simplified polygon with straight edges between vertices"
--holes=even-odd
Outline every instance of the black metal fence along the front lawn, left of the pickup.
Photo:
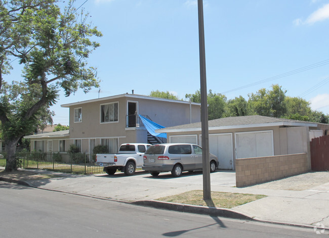
[[[1,153],[0,166],[6,166],[6,153]],[[17,152],[17,165],[26,169],[47,169],[52,171],[96,174],[104,173],[103,167],[95,166],[95,155],[67,152]]]

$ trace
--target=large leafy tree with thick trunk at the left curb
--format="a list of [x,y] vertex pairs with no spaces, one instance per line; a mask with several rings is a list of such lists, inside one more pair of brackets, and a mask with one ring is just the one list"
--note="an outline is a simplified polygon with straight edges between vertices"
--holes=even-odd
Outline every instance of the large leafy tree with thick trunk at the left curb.
[[[0,121],[7,148],[6,171],[17,169],[19,139],[38,126],[40,116],[59,97],[78,88],[98,87],[96,69],[87,65],[101,36],[84,10],[69,1],[61,11],[56,0],[0,0]],[[18,60],[22,80],[6,75]]]

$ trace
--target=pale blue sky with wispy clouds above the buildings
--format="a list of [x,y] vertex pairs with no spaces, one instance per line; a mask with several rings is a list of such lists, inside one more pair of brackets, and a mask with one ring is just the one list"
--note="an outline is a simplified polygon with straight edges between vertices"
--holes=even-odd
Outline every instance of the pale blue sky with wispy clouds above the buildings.
[[[82,5],[82,6],[81,6]],[[60,105],[122,93],[200,88],[196,0],[77,0],[103,33],[89,58],[99,88],[61,93],[54,124],[68,125]],[[207,89],[227,99],[279,84],[329,114],[329,0],[203,0]]]

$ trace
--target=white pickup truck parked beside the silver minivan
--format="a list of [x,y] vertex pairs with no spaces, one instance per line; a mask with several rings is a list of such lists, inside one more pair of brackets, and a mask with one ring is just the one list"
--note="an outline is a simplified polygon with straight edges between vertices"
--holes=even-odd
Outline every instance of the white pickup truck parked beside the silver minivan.
[[104,167],[104,171],[110,175],[116,170],[133,175],[136,168],[142,167],[144,152],[149,146],[141,143],[122,144],[117,154],[96,154],[95,165]]

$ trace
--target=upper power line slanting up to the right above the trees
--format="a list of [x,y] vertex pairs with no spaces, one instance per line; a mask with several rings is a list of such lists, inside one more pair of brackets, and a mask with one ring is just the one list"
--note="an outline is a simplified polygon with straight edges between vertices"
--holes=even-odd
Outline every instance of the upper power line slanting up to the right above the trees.
[[315,64],[311,64],[311,65],[308,65],[308,66],[305,66],[305,67],[302,67],[302,68],[299,68],[299,69],[295,69],[295,70],[292,70],[292,71],[289,71],[289,72],[286,72],[286,73],[283,73],[283,74],[278,74],[276,76],[266,78],[266,79],[263,79],[263,80],[260,80],[260,81],[254,82],[254,83],[250,83],[250,84],[246,84],[246,85],[243,85],[243,86],[240,86],[240,87],[236,87],[236,88],[233,88],[231,90],[221,92],[221,94],[225,94],[225,93],[228,93],[228,92],[237,91],[237,90],[244,89],[244,88],[247,88],[247,87],[255,86],[255,85],[258,85],[258,84],[261,84],[261,83],[272,81],[274,79],[287,77],[287,76],[290,76],[290,75],[293,75],[293,74],[301,73],[301,72],[311,70],[311,69],[314,69],[314,68],[317,68],[317,67],[321,67],[321,66],[327,65],[327,64],[329,64],[329,59],[324,60],[324,61],[320,61],[320,62],[315,63]]

